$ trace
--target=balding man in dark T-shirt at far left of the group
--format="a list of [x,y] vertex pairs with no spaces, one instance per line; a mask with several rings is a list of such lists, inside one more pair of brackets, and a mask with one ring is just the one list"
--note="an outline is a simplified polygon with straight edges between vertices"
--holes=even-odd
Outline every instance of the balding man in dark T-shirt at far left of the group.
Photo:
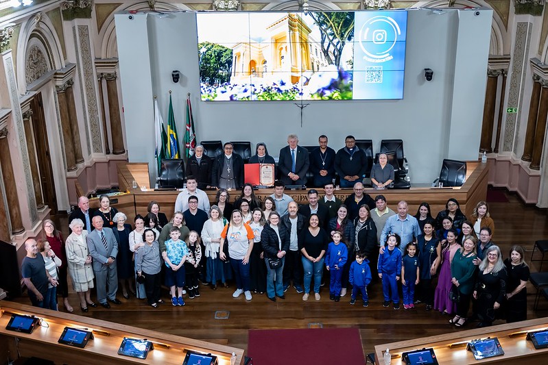
[[25,251],[27,251],[27,255],[21,264],[21,275],[25,286],[27,286],[30,302],[34,307],[43,308],[45,303],[49,303],[49,298],[47,298],[48,283],[57,286],[57,280],[47,273],[44,257],[38,254],[36,240],[33,238],[26,240]]

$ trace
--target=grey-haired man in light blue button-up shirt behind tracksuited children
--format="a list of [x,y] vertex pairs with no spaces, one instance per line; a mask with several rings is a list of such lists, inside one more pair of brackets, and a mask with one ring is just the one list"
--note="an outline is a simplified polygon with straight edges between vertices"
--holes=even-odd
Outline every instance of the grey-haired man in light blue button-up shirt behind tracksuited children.
[[405,252],[405,247],[414,238],[420,235],[420,227],[418,227],[417,219],[414,216],[407,214],[407,201],[398,203],[398,214],[389,217],[381,233],[381,250],[384,252],[384,245],[389,234],[398,234],[401,237],[400,250]]

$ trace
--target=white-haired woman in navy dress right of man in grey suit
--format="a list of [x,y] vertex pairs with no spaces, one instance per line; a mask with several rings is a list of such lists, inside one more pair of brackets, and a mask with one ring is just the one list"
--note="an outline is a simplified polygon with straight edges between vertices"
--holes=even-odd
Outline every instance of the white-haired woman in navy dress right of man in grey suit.
[[[117,212],[112,218],[112,221],[116,224],[112,228],[116,241],[118,242],[118,255],[116,257],[116,268],[118,273],[118,286],[122,288],[122,295],[126,299],[130,299],[128,294],[128,288],[131,290],[133,278],[133,253],[130,250],[130,233],[132,231],[131,225],[126,223],[128,217],[122,212]],[[126,286],[127,284],[127,286]],[[134,292],[132,294],[135,295]]]

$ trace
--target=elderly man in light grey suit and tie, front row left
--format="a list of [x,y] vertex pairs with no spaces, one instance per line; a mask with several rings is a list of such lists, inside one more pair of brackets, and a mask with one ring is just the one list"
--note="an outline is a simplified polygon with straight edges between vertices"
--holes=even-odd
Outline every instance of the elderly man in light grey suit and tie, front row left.
[[[110,308],[107,299],[115,304],[121,304],[116,299],[118,290],[118,275],[116,272],[116,255],[118,254],[118,242],[112,233],[112,229],[103,228],[103,219],[94,216],[91,223],[95,230],[88,234],[88,251],[93,257],[93,272],[97,280],[97,301]],[[108,286],[108,292],[106,291]]]

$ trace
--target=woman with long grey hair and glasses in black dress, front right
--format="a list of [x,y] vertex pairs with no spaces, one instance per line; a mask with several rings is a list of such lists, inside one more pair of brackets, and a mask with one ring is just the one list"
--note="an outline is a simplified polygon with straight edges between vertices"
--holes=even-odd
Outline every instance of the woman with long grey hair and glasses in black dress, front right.
[[479,264],[476,288],[473,292],[474,299],[477,300],[476,314],[479,318],[477,327],[490,326],[497,318],[497,310],[505,299],[507,279],[501,249],[492,245]]

